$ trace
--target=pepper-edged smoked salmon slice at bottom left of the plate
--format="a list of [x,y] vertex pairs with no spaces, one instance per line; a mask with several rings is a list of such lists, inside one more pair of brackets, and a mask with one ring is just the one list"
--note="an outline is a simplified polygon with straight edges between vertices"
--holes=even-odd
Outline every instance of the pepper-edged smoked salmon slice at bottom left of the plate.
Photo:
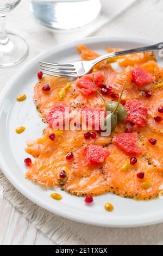
[[[51,128],[45,131],[45,135],[31,143],[26,149],[27,153],[35,156],[35,160],[28,168],[26,177],[37,184],[45,187],[61,186],[71,194],[82,196],[83,194],[101,194],[107,189],[104,174],[101,176],[101,161],[94,167],[88,168],[83,166],[85,157],[81,157],[81,149],[87,142],[84,139],[83,131],[64,131],[55,137],[55,141],[49,139],[48,134],[52,132]],[[102,144],[108,144],[108,138],[97,137],[92,140],[94,147],[102,148]],[[101,145],[98,145],[101,144]],[[61,150],[62,149],[62,150]],[[66,155],[72,151],[74,154],[73,161],[67,161]],[[109,150],[104,149],[103,160],[109,155]],[[50,162],[50,164],[49,164]],[[60,170],[68,171],[68,179],[62,182],[59,178]],[[89,182],[90,181],[90,187]],[[78,184],[79,182],[79,184]],[[96,191],[96,187],[98,186]],[[92,192],[95,187],[95,192]]]

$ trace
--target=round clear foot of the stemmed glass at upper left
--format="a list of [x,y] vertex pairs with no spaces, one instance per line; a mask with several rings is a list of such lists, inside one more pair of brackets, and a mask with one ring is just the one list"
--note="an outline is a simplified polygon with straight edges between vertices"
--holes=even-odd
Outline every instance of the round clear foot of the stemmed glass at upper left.
[[0,44],[0,67],[13,66],[27,57],[27,42],[18,35],[9,33],[7,44]]

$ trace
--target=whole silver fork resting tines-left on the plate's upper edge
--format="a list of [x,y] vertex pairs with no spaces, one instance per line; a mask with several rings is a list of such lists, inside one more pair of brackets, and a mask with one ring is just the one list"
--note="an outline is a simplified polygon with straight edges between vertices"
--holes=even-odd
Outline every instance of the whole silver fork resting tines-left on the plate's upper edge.
[[135,48],[120,52],[112,52],[89,61],[83,60],[72,63],[40,62],[40,66],[43,74],[65,78],[76,78],[87,74],[93,68],[93,66],[104,59],[123,56],[131,53],[159,51],[161,49],[163,49],[163,42],[152,46]]

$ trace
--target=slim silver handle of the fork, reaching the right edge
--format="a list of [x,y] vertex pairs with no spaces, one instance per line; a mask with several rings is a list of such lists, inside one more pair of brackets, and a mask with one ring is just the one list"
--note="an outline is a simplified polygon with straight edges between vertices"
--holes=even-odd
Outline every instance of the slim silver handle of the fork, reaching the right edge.
[[160,42],[159,44],[156,44],[156,45],[104,54],[96,59],[91,60],[91,62],[93,65],[96,65],[97,63],[101,62],[102,60],[112,58],[112,57],[123,56],[123,55],[131,54],[131,53],[159,51],[161,49],[163,49],[163,42]]

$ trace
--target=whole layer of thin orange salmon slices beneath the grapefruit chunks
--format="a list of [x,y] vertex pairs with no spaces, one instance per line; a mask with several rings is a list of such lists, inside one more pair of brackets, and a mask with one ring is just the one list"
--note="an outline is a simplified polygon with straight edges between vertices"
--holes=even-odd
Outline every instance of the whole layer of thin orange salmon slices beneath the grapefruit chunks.
[[[99,56],[98,53],[84,45],[78,46],[83,60],[91,60]],[[106,48],[106,51],[113,52],[118,49]],[[102,83],[111,86],[115,93],[120,93],[125,81],[126,89],[122,96],[123,100],[140,100],[148,109],[147,124],[145,127],[138,126],[134,132],[137,133],[137,142],[142,148],[142,154],[136,156],[137,163],[129,164],[127,170],[122,171],[124,164],[130,160],[129,155],[112,143],[112,138],[124,133],[131,124],[125,121],[118,122],[116,130],[108,137],[102,137],[96,133],[96,138],[85,139],[86,131],[53,131],[47,125],[43,136],[36,141],[27,141],[26,152],[35,157],[35,160],[28,167],[26,176],[29,180],[44,187],[61,187],[62,190],[77,196],[97,196],[99,194],[112,192],[122,197],[147,200],[158,197],[160,187],[163,185],[163,122],[156,123],[155,116],[163,114],[158,112],[163,107],[163,86],[154,87],[155,84],[163,82],[163,69],[156,64],[153,53],[139,53],[130,56],[123,56],[111,60],[121,66],[121,71],[112,68],[109,60],[97,64],[91,71],[101,71],[103,74]],[[152,84],[146,84],[141,88],[131,80],[131,70],[135,67],[148,71],[154,77]],[[34,102],[40,112],[43,121],[50,109],[57,103],[66,103],[71,111],[79,113],[85,105],[91,107],[104,107],[104,102],[95,93],[87,97],[82,94],[76,81],[66,89],[65,96],[59,99],[58,92],[65,88],[69,81],[65,78],[52,76],[43,77],[34,88]],[[43,92],[42,86],[48,84],[50,92]],[[154,89],[153,89],[154,88]],[[152,97],[145,96],[145,92],[151,90]],[[115,100],[111,96],[105,96],[106,100]],[[55,133],[55,140],[49,139],[49,134]],[[152,145],[148,139],[154,138],[157,143]],[[103,162],[85,165],[85,156],[82,153],[86,145],[98,145],[101,149],[107,149],[109,154]],[[67,153],[73,153],[71,161],[66,160]],[[60,179],[60,170],[67,173],[66,179]],[[143,179],[137,178],[138,173],[144,173]],[[150,180],[151,186],[145,189],[142,184]]]

